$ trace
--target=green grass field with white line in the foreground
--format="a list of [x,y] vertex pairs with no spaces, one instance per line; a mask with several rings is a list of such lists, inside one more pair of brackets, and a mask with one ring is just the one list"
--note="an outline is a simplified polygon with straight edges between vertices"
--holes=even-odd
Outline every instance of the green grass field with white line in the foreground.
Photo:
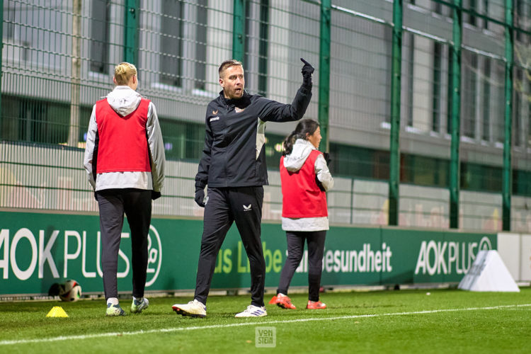
[[[190,300],[182,297],[155,297],[142,314],[113,318],[103,300],[1,302],[0,353],[531,353],[530,288],[327,292],[325,310],[304,309],[305,294],[291,297],[296,310],[266,304],[259,319],[234,318],[249,296],[211,296],[205,319],[175,314],[172,304]],[[128,312],[130,299],[121,304]],[[54,306],[69,317],[47,318]],[[257,347],[260,327],[275,330],[274,348]]]

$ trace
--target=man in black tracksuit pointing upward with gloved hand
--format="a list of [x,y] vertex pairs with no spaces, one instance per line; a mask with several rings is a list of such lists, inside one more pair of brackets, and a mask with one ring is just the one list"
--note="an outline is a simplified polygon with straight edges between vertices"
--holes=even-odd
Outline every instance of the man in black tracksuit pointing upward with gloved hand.
[[[219,66],[223,90],[207,107],[205,147],[195,176],[195,202],[205,207],[194,300],[175,304],[185,316],[206,316],[206,302],[217,253],[232,225],[244,244],[251,266],[251,306],[236,317],[266,316],[263,304],[265,261],[261,244],[265,166],[265,122],[302,118],[312,98],[314,68],[304,61],[303,84],[291,104],[271,101],[244,91],[244,69],[227,60]],[[208,185],[205,200],[205,186]]]

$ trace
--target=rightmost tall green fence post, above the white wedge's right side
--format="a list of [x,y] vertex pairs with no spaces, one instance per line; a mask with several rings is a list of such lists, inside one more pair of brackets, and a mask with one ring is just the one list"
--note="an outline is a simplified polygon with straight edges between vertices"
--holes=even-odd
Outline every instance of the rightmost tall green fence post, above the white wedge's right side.
[[503,231],[510,231],[510,199],[513,185],[511,145],[513,131],[513,0],[506,0],[506,85],[505,139],[503,139],[502,219]]

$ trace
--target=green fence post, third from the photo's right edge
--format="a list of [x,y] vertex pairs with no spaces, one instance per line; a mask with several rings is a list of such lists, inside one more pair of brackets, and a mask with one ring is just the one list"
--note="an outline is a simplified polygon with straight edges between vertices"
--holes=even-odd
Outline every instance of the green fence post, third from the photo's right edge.
[[400,184],[400,81],[402,64],[402,0],[393,1],[391,64],[391,134],[389,139],[389,225],[398,225]]

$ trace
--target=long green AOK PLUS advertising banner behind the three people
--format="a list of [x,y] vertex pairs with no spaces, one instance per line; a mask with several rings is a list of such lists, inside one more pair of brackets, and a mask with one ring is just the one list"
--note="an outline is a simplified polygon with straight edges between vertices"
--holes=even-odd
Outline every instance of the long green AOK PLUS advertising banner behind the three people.
[[[127,221],[118,257],[118,290],[130,292],[131,240]],[[147,292],[193,290],[201,220],[152,219]],[[276,287],[286,259],[280,224],[262,225],[265,286]],[[395,228],[331,227],[323,258],[324,286],[458,282],[496,234]],[[47,294],[50,285],[77,280],[83,292],[103,292],[99,218],[0,212],[0,295]],[[307,252],[292,286],[307,286]],[[235,225],[219,251],[212,289],[249,287],[249,261]]]

